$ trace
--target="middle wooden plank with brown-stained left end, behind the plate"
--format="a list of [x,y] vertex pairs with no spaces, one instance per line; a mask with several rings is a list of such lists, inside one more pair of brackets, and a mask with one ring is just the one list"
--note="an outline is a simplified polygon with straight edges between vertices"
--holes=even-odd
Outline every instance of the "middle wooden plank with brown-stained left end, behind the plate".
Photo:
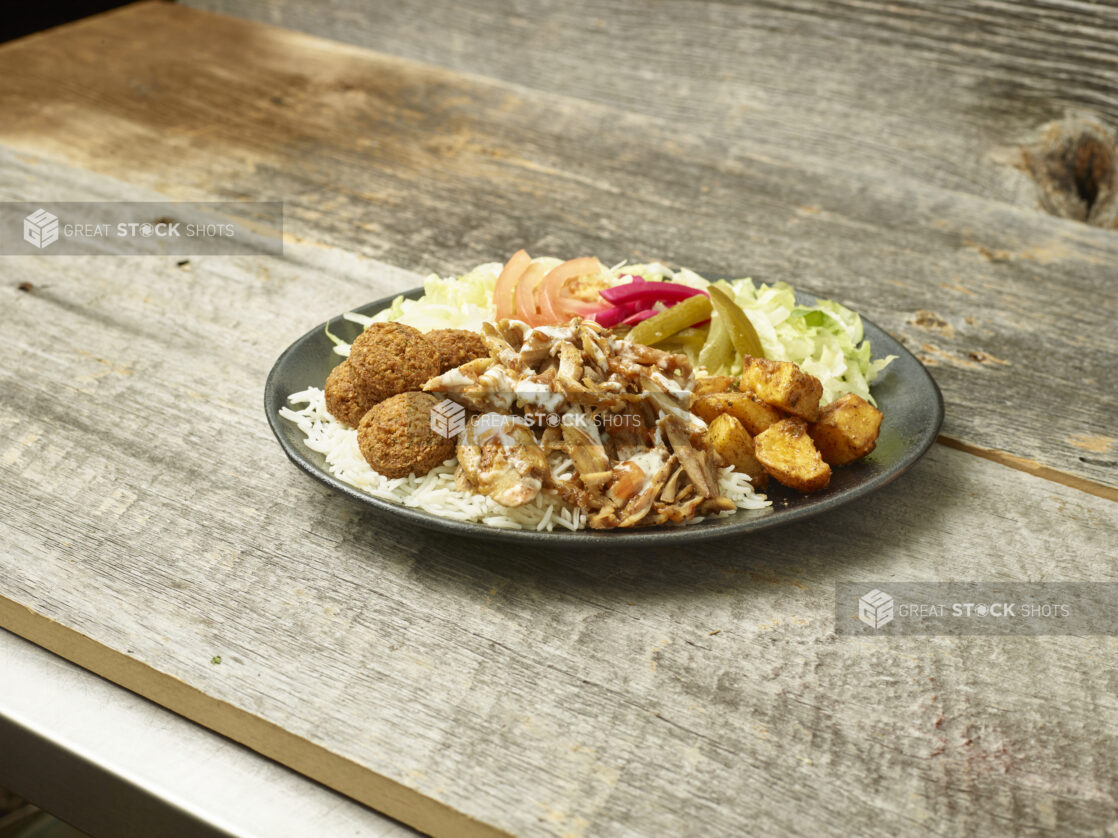
[[7,45],[0,69],[6,147],[283,198],[293,240],[418,272],[659,257],[839,298],[932,366],[950,438],[1118,486],[1110,231],[163,3]]

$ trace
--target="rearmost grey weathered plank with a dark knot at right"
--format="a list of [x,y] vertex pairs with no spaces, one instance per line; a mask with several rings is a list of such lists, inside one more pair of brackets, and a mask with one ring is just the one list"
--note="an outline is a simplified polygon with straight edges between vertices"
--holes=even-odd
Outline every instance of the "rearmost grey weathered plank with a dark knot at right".
[[[666,118],[781,160],[1027,207],[1038,194],[1020,150],[1043,124],[1070,112],[1111,136],[1118,125],[1114,3],[186,2]],[[1111,155],[1100,226],[1118,222],[1114,170]]]

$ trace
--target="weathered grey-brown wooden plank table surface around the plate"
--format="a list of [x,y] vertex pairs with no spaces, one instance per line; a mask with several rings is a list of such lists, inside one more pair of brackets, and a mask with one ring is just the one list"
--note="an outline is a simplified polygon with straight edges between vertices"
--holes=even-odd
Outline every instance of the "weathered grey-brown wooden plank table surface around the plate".
[[[283,258],[0,260],[0,625],[438,836],[1118,830],[1118,640],[833,618],[1118,578],[1115,7],[197,4],[252,20],[0,47],[3,200],[286,207]],[[942,445],[672,553],[448,541],[290,466],[291,340],[520,246],[836,297]]]

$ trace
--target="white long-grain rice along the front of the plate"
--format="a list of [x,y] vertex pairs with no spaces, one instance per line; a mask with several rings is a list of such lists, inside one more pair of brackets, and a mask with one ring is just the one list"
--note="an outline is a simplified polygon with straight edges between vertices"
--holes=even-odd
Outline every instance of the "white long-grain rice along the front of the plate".
[[[303,432],[306,447],[325,456],[326,468],[338,479],[382,501],[423,510],[455,521],[472,521],[502,530],[538,530],[552,532],[586,528],[586,513],[557,496],[541,492],[523,506],[510,508],[473,492],[462,492],[454,485],[457,458],[443,463],[423,477],[385,477],[373,472],[357,442],[357,430],[335,420],[326,410],[325,393],[316,387],[287,397],[292,404],[305,404],[300,410],[281,408],[280,415]],[[559,454],[552,455],[551,470],[557,477],[570,474],[574,464]],[[765,495],[754,492],[749,476],[723,468],[719,474],[722,494],[740,510],[760,510],[770,505]],[[732,515],[732,511],[720,515]],[[689,524],[702,521],[697,516]]]

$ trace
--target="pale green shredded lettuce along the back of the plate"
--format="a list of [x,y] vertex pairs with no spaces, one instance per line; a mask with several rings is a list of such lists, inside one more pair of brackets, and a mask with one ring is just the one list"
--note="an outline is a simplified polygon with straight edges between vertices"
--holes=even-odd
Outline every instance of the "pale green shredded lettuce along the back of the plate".
[[[556,260],[558,264],[558,260]],[[459,277],[428,276],[420,299],[397,297],[389,308],[372,321],[399,321],[421,332],[432,328],[470,328],[477,331],[486,320],[493,320],[493,289],[500,263],[480,265]],[[606,270],[610,282],[627,282],[623,277],[643,276],[651,282],[672,280],[703,288],[709,280],[688,268],[672,270],[660,263],[615,265]],[[752,279],[720,279],[719,287],[733,297],[749,317],[765,347],[765,355],[776,361],[793,361],[823,383],[823,403],[846,393],[856,393],[870,403],[870,384],[896,355],[872,359],[865,340],[862,318],[856,312],[830,299],[813,306],[796,303],[787,283],[755,284]],[[357,317],[354,316],[354,320]],[[339,346],[339,352],[344,351]],[[698,353],[692,362],[698,363]],[[741,360],[735,359],[711,374],[737,375]]]

